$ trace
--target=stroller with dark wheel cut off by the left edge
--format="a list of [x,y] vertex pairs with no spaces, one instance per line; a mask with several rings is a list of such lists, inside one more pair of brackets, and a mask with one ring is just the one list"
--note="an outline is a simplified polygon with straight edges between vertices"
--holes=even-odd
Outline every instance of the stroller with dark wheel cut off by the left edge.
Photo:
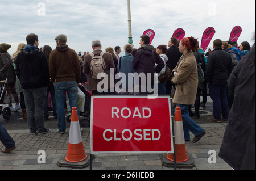
[[[5,78],[6,77],[6,78]],[[8,75],[5,73],[0,72],[0,89],[1,89],[1,96],[0,96],[0,115],[3,114],[3,119],[8,120],[11,116],[11,110],[9,107],[3,108],[3,104],[6,104],[3,99],[5,97],[5,86],[7,84]]]

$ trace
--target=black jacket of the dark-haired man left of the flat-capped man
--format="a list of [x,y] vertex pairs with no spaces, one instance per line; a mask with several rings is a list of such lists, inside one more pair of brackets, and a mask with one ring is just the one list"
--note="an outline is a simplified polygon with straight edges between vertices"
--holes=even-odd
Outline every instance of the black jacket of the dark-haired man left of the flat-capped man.
[[49,86],[49,66],[46,54],[39,49],[23,49],[17,56],[16,74],[22,89]]

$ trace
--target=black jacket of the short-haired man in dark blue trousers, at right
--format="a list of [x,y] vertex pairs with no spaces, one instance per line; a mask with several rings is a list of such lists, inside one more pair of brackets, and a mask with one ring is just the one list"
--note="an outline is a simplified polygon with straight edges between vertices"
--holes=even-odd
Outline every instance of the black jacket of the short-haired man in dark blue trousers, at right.
[[226,85],[232,71],[232,60],[228,52],[218,47],[209,54],[205,72],[205,81],[212,85]]

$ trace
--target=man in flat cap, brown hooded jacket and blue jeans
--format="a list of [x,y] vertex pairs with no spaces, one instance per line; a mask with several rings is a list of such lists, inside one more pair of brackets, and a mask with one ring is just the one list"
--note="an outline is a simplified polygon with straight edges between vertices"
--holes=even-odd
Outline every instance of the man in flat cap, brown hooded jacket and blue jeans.
[[[77,108],[77,84],[80,82],[81,69],[75,50],[70,49],[66,35],[55,38],[57,47],[49,56],[49,74],[55,82],[55,98],[57,104],[57,117],[59,133],[64,133],[65,123],[65,94],[68,93],[69,105],[72,110]],[[79,109],[77,109],[79,115]]]

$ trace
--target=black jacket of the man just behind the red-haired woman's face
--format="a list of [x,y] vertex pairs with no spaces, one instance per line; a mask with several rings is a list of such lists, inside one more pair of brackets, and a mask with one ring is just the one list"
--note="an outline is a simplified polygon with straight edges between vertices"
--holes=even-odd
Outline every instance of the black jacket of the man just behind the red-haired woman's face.
[[171,72],[172,69],[175,68],[177,65],[177,62],[179,62],[180,57],[182,56],[182,53],[180,53],[179,48],[177,48],[175,45],[172,45],[166,52],[166,56],[168,57],[167,66],[170,68]]

